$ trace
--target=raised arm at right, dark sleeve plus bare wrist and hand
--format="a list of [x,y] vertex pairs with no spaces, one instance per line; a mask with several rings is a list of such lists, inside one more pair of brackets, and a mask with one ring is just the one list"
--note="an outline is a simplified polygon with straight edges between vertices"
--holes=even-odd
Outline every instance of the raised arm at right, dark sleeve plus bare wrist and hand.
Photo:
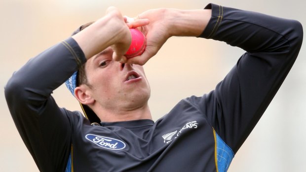
[[145,64],[170,36],[211,38],[246,51],[214,91],[188,99],[234,153],[284,81],[303,40],[298,21],[215,4],[204,10],[149,10],[138,18],[151,21],[142,28],[149,47],[128,63]]

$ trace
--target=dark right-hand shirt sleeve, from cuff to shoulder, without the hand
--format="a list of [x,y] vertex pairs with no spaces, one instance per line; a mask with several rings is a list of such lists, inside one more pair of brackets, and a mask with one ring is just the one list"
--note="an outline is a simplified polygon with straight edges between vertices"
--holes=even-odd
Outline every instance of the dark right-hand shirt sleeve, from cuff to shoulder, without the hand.
[[295,20],[214,4],[208,7],[212,18],[200,36],[247,51],[201,103],[218,135],[236,152],[293,66],[303,29]]

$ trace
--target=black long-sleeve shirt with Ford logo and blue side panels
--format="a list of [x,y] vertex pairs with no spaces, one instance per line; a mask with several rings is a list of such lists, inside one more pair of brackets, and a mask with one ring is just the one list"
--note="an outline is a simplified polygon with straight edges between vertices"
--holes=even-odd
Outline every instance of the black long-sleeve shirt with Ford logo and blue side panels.
[[222,172],[268,107],[295,62],[299,22],[209,4],[200,35],[246,52],[216,89],[179,102],[158,119],[91,126],[59,108],[51,93],[85,57],[73,38],[13,74],[5,97],[16,127],[44,172]]

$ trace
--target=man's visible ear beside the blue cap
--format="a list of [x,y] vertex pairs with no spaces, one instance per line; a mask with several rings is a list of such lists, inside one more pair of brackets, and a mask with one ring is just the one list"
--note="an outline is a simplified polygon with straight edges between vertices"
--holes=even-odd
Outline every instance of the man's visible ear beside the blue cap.
[[75,88],[75,97],[78,100],[78,102],[82,104],[91,104],[94,103],[94,99],[89,94],[88,87],[85,85],[80,85]]

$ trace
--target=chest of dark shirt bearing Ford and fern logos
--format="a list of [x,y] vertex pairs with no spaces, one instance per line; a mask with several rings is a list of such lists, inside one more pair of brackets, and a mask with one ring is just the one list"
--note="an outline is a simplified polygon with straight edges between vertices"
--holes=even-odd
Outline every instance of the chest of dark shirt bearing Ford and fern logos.
[[83,126],[73,141],[75,172],[214,171],[215,139],[205,118],[166,120],[141,128]]

